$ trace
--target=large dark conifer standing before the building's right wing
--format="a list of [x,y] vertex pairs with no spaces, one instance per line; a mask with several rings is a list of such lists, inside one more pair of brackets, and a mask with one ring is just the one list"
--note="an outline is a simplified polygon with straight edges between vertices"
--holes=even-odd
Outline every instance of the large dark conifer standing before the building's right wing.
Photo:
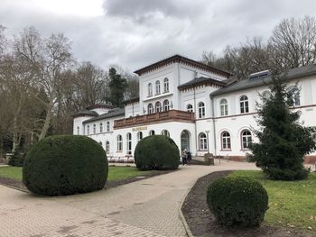
[[299,122],[300,112],[293,110],[293,99],[299,91],[288,92],[285,76],[272,76],[271,96],[258,106],[255,131],[258,143],[252,145],[251,160],[263,169],[270,179],[295,180],[307,178],[303,168],[304,155],[315,149],[315,127],[304,127]]

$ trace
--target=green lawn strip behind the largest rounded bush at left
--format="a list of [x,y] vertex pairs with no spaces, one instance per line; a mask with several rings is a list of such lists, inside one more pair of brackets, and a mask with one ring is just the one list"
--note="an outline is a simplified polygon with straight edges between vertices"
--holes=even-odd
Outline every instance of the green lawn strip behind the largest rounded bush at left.
[[[152,171],[139,171],[135,167],[109,166],[107,180],[119,180],[135,176],[143,176]],[[0,177],[22,180],[22,167],[0,167]]]

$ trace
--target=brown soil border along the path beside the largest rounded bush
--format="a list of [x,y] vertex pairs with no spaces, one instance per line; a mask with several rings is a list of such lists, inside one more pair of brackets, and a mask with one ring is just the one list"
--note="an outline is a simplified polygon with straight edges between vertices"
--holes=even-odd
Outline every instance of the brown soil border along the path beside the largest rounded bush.
[[[111,187],[118,187],[121,185],[125,185],[125,184],[129,184],[138,180],[142,180],[144,178],[152,178],[154,176],[159,176],[159,175],[163,175],[163,174],[167,174],[170,172],[173,172],[176,170],[153,170],[152,172],[148,173],[148,174],[144,174],[141,177],[137,178],[137,177],[130,177],[130,178],[124,178],[124,179],[119,179],[119,180],[113,180],[113,181],[107,181],[106,186],[104,187],[104,189],[108,189]],[[12,178],[3,178],[0,177],[0,185],[4,185],[6,187],[12,187],[15,189],[18,189],[20,191],[26,192],[28,193],[29,190],[23,185],[23,182],[20,180],[15,180]]]

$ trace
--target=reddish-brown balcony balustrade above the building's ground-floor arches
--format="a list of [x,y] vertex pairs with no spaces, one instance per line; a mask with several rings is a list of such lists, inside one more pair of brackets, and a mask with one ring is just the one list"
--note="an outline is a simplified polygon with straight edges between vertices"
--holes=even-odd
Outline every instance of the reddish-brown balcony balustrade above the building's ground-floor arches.
[[155,114],[144,114],[125,119],[118,119],[114,121],[114,129],[162,122],[194,123],[194,113],[181,110],[170,110]]

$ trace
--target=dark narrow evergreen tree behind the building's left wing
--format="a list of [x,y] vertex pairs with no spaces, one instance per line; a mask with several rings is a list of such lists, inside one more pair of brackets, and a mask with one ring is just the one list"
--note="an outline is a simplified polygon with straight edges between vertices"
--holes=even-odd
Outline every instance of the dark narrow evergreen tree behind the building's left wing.
[[127,86],[126,79],[116,73],[116,68],[110,68],[108,70],[108,76],[110,78],[110,96],[107,97],[107,101],[109,101],[112,105],[122,107],[124,93]]

